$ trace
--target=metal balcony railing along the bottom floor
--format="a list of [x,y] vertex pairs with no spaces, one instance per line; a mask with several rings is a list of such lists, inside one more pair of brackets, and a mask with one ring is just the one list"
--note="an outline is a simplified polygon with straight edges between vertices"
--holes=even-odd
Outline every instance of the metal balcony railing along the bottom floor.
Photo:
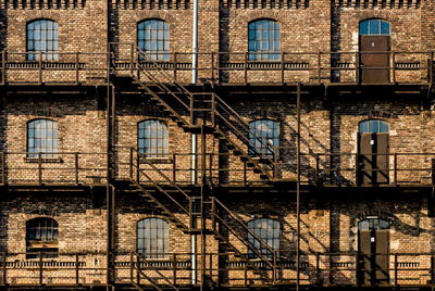
[[[276,260],[271,266],[258,261],[258,267],[271,274],[272,284],[296,283],[296,253],[276,251]],[[191,284],[191,253],[161,254],[161,258],[147,258],[144,254],[114,253],[115,283],[136,283],[160,287]],[[234,253],[197,253],[198,270],[204,270],[207,283],[214,286],[262,286],[259,274]],[[203,260],[201,257],[204,257]],[[366,286],[362,277],[376,276],[361,264],[363,257],[382,257],[387,262],[383,269],[381,286],[422,287],[434,283],[434,253],[375,253],[360,252],[315,253],[302,252],[300,256],[300,284],[302,286]],[[46,258],[39,253],[35,260],[27,260],[26,253],[0,253],[0,286],[102,286],[105,283],[105,253],[59,253]],[[202,266],[201,263],[204,263]],[[368,278],[374,279],[375,278]],[[152,282],[150,282],[152,280]],[[197,284],[201,283],[200,277]]]

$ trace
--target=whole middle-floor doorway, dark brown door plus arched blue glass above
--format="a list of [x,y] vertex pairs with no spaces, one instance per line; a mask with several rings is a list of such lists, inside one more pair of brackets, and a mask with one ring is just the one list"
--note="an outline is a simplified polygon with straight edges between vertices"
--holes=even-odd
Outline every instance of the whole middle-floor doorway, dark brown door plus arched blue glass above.
[[358,132],[358,186],[389,184],[389,125],[383,121],[361,122]]

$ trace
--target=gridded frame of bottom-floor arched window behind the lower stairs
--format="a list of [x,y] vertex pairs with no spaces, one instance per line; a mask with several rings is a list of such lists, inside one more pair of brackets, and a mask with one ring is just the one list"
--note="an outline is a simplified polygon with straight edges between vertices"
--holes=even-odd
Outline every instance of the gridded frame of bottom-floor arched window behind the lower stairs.
[[[272,229],[272,238],[268,238],[268,236],[263,237],[262,236],[262,229],[263,228],[257,228],[257,227],[252,227],[251,225],[258,223],[261,224],[262,220],[265,222],[272,222],[272,228],[266,228],[264,230],[265,235],[268,235],[268,230]],[[269,225],[269,224],[268,224]],[[276,227],[277,226],[277,227]],[[254,218],[248,222],[248,228],[249,230],[251,230],[256,236],[258,236],[264,243],[266,243],[272,250],[274,251],[279,251],[281,248],[281,239],[282,239],[282,224],[279,220],[277,219],[273,219],[273,218],[269,218],[269,217],[260,217],[260,218]],[[260,230],[260,232],[256,231],[257,229]],[[275,236],[277,232],[277,236]],[[248,232],[248,242],[253,245],[253,248],[257,249],[257,251],[264,257],[268,258],[273,258],[273,254],[270,253],[269,250],[266,250],[264,246],[262,246],[262,244],[260,243],[260,241],[258,239],[256,239],[252,235],[250,235]],[[272,242],[272,245],[271,243]],[[277,246],[277,248],[276,248]],[[257,258],[258,255],[256,254],[256,252],[253,252],[251,249],[248,249],[248,257],[249,258]]]

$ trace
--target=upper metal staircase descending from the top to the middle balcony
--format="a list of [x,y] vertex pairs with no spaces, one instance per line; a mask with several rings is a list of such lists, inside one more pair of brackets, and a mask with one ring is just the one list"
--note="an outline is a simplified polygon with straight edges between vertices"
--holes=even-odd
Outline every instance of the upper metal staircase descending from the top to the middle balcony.
[[[261,179],[276,178],[278,150],[215,92],[194,92],[175,81],[161,65],[135,48],[129,75],[139,89],[150,96],[162,111],[186,131],[199,131],[201,125],[226,143],[227,149],[259,174]],[[150,69],[152,68],[152,69]],[[197,118],[201,116],[201,118]],[[199,121],[203,121],[200,124]]]

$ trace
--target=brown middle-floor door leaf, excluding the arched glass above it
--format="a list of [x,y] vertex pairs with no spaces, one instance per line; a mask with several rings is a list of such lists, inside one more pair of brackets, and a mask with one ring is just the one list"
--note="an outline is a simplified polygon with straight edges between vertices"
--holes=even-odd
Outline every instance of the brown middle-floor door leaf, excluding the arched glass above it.
[[358,172],[359,186],[388,184],[388,134],[359,134]]

